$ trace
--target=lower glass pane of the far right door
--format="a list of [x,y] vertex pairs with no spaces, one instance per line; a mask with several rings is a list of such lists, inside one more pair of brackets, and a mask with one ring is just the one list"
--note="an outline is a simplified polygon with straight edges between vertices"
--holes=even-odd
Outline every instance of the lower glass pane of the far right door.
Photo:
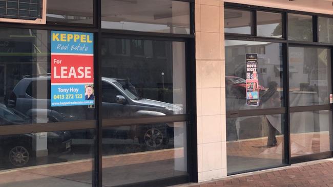
[[292,157],[332,150],[332,111],[290,113]]

